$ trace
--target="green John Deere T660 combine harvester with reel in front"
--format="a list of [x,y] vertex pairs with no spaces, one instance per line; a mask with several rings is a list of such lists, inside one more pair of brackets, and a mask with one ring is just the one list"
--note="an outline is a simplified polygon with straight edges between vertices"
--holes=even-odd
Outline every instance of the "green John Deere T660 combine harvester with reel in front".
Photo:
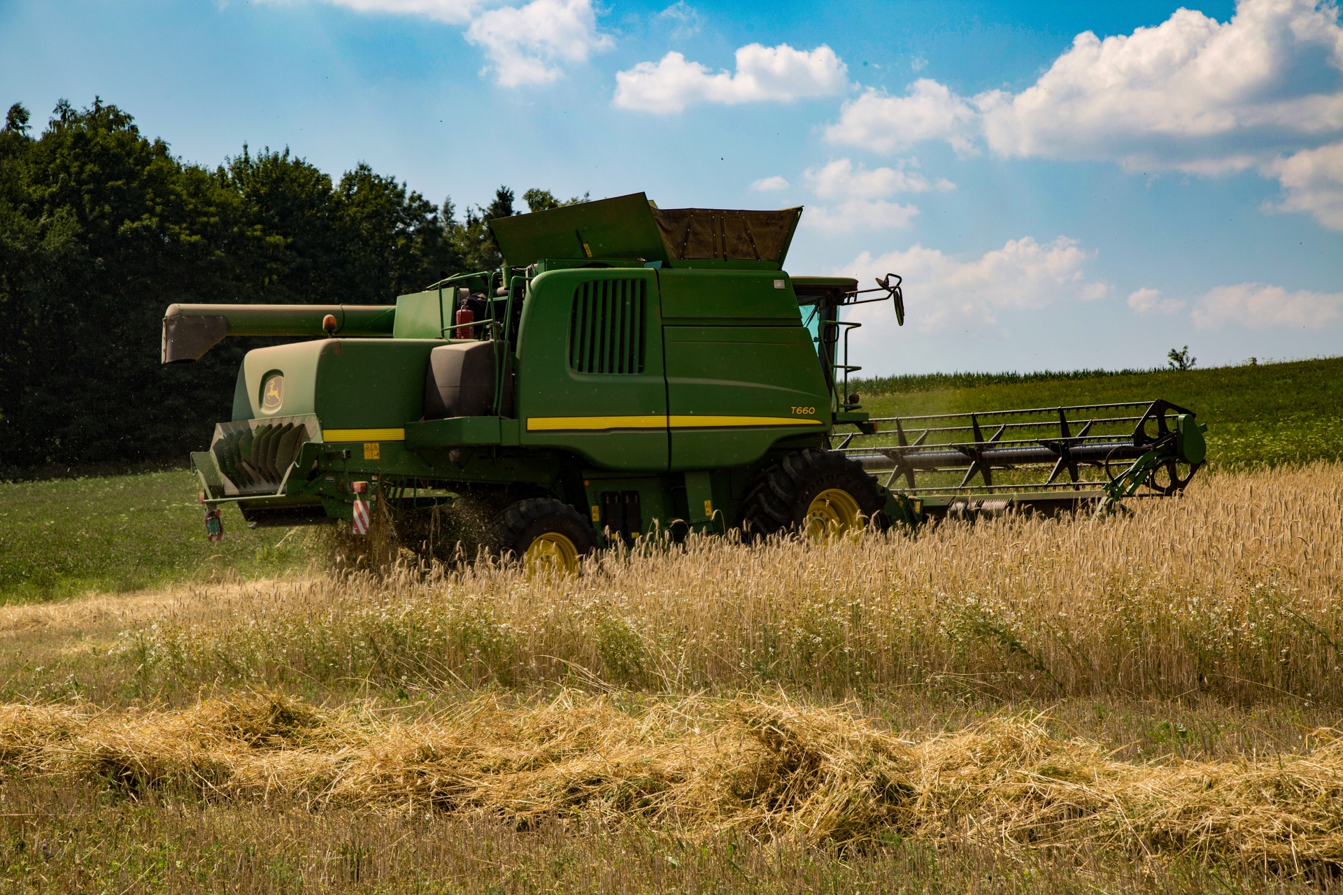
[[1205,427],[1160,400],[870,419],[841,309],[890,301],[904,323],[900,278],[788,275],[800,215],[635,193],[493,220],[500,270],[395,306],[173,305],[164,364],[304,337],[246,354],[232,420],[192,454],[207,527],[236,503],[251,526],[361,533],[376,507],[410,529],[470,499],[501,554],[573,570],[654,533],[1109,506],[1203,462]]

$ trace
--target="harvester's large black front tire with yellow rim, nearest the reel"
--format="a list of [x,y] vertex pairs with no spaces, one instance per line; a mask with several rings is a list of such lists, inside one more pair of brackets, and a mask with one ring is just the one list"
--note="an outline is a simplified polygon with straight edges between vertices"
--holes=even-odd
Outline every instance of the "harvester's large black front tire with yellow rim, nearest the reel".
[[885,501],[857,460],[837,451],[790,454],[756,479],[743,503],[748,538],[799,533],[829,538],[869,523],[885,527]]

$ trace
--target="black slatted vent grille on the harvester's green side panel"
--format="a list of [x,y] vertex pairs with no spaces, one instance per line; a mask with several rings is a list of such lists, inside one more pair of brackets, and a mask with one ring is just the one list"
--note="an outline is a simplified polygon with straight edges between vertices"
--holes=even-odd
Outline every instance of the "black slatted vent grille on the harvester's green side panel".
[[642,373],[647,280],[598,279],[573,290],[569,366],[579,373]]

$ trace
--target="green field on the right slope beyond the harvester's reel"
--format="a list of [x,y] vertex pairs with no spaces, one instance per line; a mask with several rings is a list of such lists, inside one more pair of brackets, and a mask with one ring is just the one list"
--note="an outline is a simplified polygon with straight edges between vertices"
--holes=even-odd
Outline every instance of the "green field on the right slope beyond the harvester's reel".
[[[1207,423],[1215,466],[1281,464],[1343,454],[1343,358],[1219,366],[1206,370],[1037,376],[952,374],[850,382],[873,416],[1003,411],[1060,404],[1166,399]],[[1053,377],[1053,378],[1045,378]],[[908,380],[908,381],[907,381]],[[904,390],[894,390],[904,389]]]

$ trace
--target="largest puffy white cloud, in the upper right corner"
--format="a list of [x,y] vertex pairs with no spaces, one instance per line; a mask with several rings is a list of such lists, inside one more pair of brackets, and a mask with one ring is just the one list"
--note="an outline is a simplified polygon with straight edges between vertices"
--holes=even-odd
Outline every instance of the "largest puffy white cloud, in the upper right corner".
[[1086,31],[1023,93],[976,103],[988,146],[1005,156],[1215,173],[1343,127],[1340,66],[1331,3],[1241,0],[1226,23],[1180,8],[1131,35]]

